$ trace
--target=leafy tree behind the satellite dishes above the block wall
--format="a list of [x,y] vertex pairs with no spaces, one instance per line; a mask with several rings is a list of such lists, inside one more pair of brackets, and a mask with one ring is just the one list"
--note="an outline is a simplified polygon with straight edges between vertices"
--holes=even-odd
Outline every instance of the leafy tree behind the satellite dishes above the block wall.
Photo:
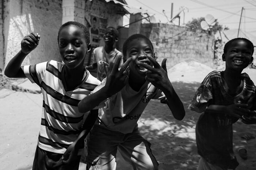
[[[188,27],[188,30],[196,32],[197,30],[200,30],[201,32],[205,32],[205,30],[203,30],[200,26],[200,23],[202,20],[205,20],[204,17],[200,17],[200,18],[192,18],[192,21],[189,21],[186,26]],[[228,27],[225,27],[224,30],[228,30]],[[214,26],[211,26],[209,28],[208,33],[213,33],[215,34],[217,31],[222,31],[223,30],[223,26],[220,25],[218,22],[216,22],[214,24]]]

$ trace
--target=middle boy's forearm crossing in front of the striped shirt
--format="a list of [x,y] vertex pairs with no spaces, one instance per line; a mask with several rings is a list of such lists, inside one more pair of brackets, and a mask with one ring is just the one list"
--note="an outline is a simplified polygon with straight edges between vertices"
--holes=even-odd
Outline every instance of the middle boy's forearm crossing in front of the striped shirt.
[[102,101],[109,98],[108,90],[104,87],[96,91],[94,94],[91,94],[85,98],[83,98],[78,103],[78,110],[81,113],[88,112],[92,110],[94,107],[98,106]]

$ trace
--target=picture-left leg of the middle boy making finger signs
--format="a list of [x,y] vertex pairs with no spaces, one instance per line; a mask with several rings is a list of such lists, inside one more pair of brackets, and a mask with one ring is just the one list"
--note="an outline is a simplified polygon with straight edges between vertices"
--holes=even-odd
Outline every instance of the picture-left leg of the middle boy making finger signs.
[[94,126],[87,139],[87,169],[115,170],[116,152],[123,134]]

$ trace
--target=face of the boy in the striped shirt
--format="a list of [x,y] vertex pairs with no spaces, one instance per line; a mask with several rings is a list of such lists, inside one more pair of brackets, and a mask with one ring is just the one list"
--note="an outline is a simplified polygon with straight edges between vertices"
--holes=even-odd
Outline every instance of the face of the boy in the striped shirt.
[[90,44],[86,43],[83,31],[75,25],[63,27],[59,34],[61,60],[70,68],[83,67]]

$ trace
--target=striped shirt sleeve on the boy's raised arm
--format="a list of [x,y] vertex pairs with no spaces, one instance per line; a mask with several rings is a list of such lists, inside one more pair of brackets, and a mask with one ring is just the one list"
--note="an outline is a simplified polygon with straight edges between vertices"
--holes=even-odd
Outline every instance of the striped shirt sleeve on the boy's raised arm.
[[42,79],[44,78],[47,65],[48,62],[35,65],[25,65],[23,66],[23,72],[30,82],[36,83],[38,86],[40,86]]

